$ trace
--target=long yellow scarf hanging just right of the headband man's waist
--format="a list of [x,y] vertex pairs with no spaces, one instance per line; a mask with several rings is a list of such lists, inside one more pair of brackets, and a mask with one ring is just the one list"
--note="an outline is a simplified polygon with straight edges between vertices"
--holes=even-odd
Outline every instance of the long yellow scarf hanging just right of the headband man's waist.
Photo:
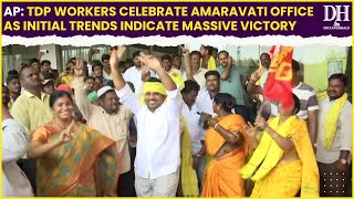
[[181,134],[181,191],[185,197],[198,197],[197,172],[192,168],[191,143],[187,123],[181,116],[180,122],[184,125]]

